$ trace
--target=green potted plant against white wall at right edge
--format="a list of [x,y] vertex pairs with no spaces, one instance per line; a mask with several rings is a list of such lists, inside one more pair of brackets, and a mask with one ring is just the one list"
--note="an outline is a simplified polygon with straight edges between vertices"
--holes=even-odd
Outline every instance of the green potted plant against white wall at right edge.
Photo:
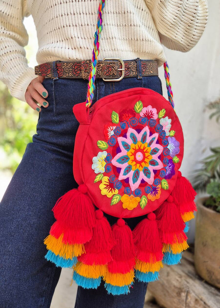
[[[210,119],[215,117],[220,124],[220,99],[209,103],[207,109],[212,110]],[[201,168],[194,171],[193,186],[210,195],[205,206],[220,212],[220,147],[210,148],[210,151],[211,155],[201,161]]]

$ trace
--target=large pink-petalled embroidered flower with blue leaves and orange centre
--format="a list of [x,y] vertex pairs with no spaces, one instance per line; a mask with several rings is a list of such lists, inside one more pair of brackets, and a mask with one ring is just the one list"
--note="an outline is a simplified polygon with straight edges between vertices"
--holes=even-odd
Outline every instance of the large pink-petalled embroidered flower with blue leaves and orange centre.
[[112,159],[112,164],[121,168],[118,179],[128,178],[132,191],[138,188],[142,179],[153,184],[153,170],[163,168],[158,158],[163,147],[156,143],[157,138],[157,133],[149,135],[147,126],[140,133],[128,128],[127,138],[118,137],[121,152]]

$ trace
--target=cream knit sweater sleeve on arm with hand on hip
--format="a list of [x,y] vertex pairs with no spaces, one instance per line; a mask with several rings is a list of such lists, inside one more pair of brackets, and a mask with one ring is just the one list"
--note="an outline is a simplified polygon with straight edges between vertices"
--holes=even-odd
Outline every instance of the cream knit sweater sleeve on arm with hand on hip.
[[10,94],[22,101],[32,79],[33,68],[28,67],[24,46],[28,34],[24,27],[27,12],[26,0],[0,0],[0,80],[6,84]]

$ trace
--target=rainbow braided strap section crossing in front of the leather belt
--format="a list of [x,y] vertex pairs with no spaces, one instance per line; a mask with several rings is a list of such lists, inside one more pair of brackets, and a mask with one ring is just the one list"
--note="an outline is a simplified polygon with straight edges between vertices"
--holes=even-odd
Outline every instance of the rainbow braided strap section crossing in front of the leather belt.
[[100,0],[96,32],[94,35],[94,48],[92,51],[92,66],[91,66],[91,71],[89,75],[88,92],[87,92],[87,99],[86,99],[87,108],[90,107],[92,103],[93,95],[94,95],[95,80],[96,80],[96,64],[97,64],[97,58],[99,55],[99,39],[100,39],[100,34],[102,32],[102,14],[103,14],[104,6],[105,6],[105,0]]

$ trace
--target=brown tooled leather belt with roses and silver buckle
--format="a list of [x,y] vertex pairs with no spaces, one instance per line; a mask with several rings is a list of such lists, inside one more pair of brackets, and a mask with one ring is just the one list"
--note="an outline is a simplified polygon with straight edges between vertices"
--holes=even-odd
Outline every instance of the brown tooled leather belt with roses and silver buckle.
[[[138,58],[137,58],[138,59]],[[97,63],[96,78],[106,81],[117,81],[123,77],[158,76],[157,61],[153,60],[128,60],[118,58],[105,58]],[[66,62],[57,60],[42,63],[35,66],[35,75],[47,78],[83,78],[88,79],[90,74],[91,60]],[[56,71],[54,70],[55,65]],[[54,73],[55,72],[55,73]]]

